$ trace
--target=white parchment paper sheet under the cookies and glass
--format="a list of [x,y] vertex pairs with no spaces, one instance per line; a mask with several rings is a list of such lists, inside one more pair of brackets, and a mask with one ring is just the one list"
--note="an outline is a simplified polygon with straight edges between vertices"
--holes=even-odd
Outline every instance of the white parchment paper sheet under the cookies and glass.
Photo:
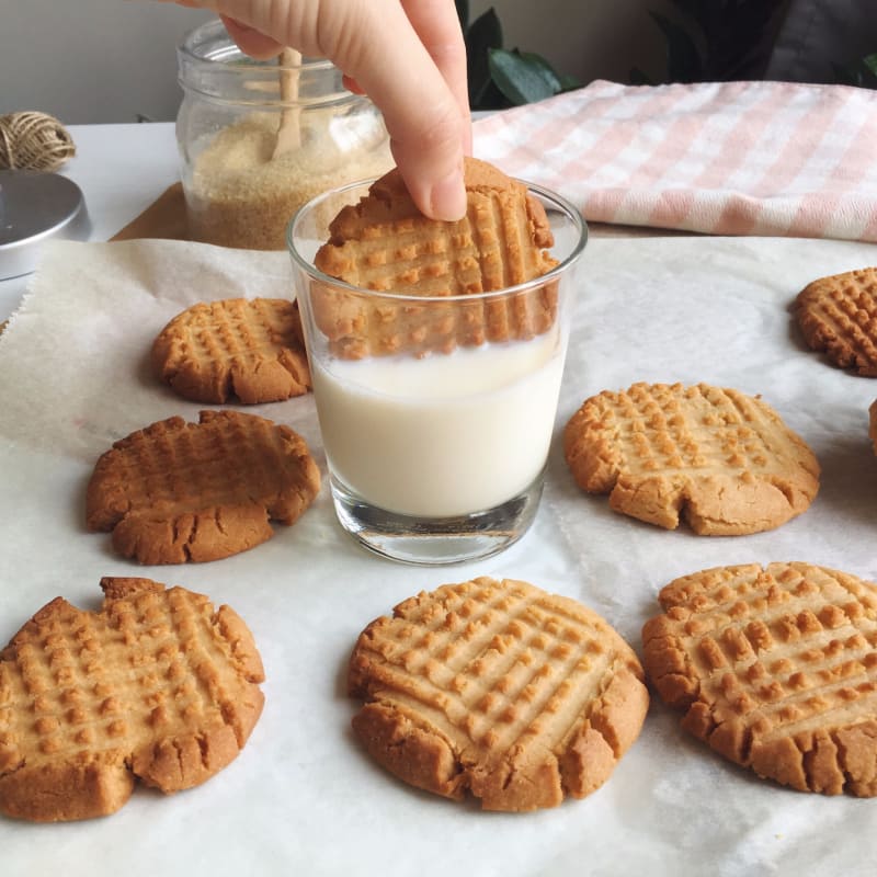
[[[877,263],[872,244],[790,239],[593,240],[582,272],[543,506],[516,546],[419,569],[356,547],[328,490],[294,527],[206,565],[139,567],[83,525],[96,457],[134,429],[198,406],[156,384],[156,333],[183,307],[287,295],[284,254],[175,241],[58,243],[0,338],[0,642],[57,594],[87,608],[105,574],[143,574],[232,605],[267,672],[241,755],[205,785],[139,788],[117,815],[34,825],[0,818],[0,874],[866,875],[877,801],[760,781],[686,736],[657,698],[614,775],[581,801],[529,815],[420,793],[385,775],[350,731],[358,631],[421,589],[475,574],[526,579],[602,613],[640,649],[657,591],[710,566],[807,560],[877,579],[877,381],[806,349],[788,306],[810,280]],[[582,400],[636,380],[706,380],[762,394],[823,468],[813,506],[771,533],[707,538],[613,513],[574,486],[560,430]],[[324,471],[310,398],[252,409],[289,423]]]

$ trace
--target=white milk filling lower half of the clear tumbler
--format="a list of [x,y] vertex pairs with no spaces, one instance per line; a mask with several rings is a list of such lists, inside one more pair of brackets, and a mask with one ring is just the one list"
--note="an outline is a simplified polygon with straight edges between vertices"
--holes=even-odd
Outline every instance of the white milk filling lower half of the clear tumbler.
[[523,492],[545,465],[563,346],[531,341],[449,355],[312,362],[333,476],[366,502],[419,517],[483,511]]

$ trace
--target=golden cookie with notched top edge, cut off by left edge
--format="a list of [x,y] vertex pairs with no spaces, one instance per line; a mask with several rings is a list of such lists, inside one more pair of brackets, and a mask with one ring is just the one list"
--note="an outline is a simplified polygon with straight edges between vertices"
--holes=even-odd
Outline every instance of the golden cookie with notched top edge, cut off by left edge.
[[201,785],[259,720],[262,661],[228,606],[149,579],[107,578],[99,612],[62,597],[0,651],[0,812],[106,816],[136,779]]

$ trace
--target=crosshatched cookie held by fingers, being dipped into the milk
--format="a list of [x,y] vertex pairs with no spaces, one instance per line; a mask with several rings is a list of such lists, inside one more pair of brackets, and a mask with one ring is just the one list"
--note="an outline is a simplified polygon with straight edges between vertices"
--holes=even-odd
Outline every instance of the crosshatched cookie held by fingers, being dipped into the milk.
[[[515,286],[557,264],[548,253],[554,236],[545,208],[523,183],[477,159],[466,160],[465,180],[468,209],[456,223],[423,216],[392,170],[330,224],[330,239],[315,258],[320,271],[351,286],[407,296],[396,305],[341,287],[315,291],[315,319],[338,355],[447,352],[528,339],[554,323],[554,283],[509,299],[477,298],[466,308],[434,300]],[[419,297],[433,300],[412,300]]]

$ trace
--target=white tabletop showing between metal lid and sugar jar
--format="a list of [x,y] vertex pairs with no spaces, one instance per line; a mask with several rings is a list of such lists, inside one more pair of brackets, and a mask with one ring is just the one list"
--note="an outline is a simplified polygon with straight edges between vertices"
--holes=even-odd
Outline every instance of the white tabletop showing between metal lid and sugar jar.
[[[58,173],[81,190],[89,240],[107,240],[180,179],[172,122],[70,125],[76,156]],[[0,321],[18,307],[32,277],[0,281]]]

